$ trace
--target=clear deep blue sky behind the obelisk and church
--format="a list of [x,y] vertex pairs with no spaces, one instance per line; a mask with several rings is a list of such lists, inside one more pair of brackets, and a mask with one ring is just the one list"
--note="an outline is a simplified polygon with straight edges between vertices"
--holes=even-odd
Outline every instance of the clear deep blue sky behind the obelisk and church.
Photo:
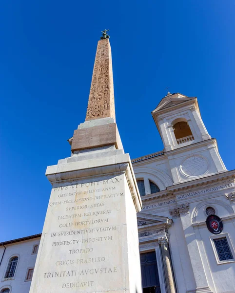
[[70,156],[97,42],[110,29],[117,126],[132,159],[163,149],[151,116],[170,92],[198,99],[235,169],[234,0],[0,2],[0,241],[42,231],[47,166]]

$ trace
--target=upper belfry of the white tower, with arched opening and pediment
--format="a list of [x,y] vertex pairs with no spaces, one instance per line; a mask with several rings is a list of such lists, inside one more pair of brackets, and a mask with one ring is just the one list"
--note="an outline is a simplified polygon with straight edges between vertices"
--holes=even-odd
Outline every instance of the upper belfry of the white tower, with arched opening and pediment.
[[208,140],[196,97],[168,93],[152,112],[165,151]]

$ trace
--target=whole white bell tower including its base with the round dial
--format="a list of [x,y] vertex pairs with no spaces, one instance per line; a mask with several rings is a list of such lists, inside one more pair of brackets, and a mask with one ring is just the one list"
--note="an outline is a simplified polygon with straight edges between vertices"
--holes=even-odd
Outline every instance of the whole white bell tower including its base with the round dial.
[[174,184],[227,171],[201,118],[196,97],[168,94],[152,112]]

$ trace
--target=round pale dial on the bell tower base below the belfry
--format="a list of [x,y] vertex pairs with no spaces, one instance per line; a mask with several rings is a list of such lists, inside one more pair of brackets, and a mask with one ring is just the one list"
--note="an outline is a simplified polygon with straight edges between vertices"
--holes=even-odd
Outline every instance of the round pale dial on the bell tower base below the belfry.
[[208,163],[205,158],[200,156],[192,156],[183,161],[181,171],[190,177],[196,177],[206,173]]

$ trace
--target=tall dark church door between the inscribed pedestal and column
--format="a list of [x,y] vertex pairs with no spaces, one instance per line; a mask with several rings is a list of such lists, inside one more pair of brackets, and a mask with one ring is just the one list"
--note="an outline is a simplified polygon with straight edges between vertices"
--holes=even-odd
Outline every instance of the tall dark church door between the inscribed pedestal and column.
[[156,252],[140,254],[143,293],[161,293]]

